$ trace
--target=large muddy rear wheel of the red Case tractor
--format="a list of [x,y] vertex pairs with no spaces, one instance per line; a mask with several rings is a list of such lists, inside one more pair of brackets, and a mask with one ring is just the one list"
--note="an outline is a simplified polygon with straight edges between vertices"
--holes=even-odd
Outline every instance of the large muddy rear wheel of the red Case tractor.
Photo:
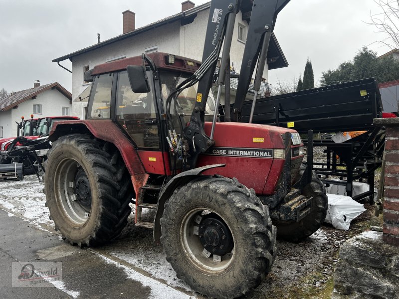
[[46,206],[64,239],[95,246],[122,231],[133,186],[118,149],[88,135],[67,135],[52,144],[44,163]]

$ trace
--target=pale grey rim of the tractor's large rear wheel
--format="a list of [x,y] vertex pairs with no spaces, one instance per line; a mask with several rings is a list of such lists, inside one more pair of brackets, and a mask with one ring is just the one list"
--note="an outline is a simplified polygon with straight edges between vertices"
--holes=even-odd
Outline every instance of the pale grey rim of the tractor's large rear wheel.
[[84,168],[73,158],[65,158],[54,174],[56,202],[69,222],[79,227],[90,216],[92,194]]

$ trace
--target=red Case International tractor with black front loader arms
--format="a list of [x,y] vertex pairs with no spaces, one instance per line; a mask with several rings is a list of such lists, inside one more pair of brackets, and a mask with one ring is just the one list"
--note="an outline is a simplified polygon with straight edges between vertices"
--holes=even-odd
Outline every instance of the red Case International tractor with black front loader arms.
[[[220,70],[228,66],[239,2],[211,2],[202,63],[152,53],[86,72],[87,119],[55,124],[45,161],[46,206],[63,239],[96,246],[115,238],[134,203],[136,225],[153,229],[179,278],[206,296],[233,298],[267,275],[276,236],[299,241],[320,228],[327,197],[311,159],[301,164],[299,134],[238,122],[240,90],[256,63],[261,80],[288,1],[253,1],[235,122],[219,121],[223,76],[216,99],[209,90],[223,40]],[[154,218],[143,209],[155,209]]]

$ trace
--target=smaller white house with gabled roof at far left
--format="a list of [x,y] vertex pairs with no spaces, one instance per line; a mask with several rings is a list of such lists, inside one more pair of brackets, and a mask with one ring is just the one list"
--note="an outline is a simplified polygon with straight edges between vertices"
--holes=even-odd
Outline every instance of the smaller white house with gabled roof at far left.
[[33,88],[14,92],[0,99],[0,138],[16,136],[21,116],[29,119],[72,115],[72,95],[57,82],[34,83]]

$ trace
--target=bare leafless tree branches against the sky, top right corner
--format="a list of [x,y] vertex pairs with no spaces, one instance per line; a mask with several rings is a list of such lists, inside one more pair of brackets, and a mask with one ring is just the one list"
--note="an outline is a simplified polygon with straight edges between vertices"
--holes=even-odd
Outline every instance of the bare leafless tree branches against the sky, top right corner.
[[380,7],[378,13],[370,12],[368,25],[376,26],[385,38],[377,42],[387,45],[391,49],[399,48],[399,0],[374,0]]

